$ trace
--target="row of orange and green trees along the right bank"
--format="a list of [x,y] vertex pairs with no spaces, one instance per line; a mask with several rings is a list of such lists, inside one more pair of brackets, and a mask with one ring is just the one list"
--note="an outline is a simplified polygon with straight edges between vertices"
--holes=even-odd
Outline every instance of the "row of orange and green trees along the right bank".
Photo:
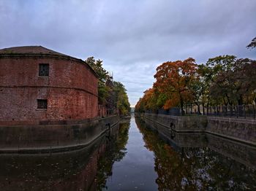
[[[248,48],[256,47],[256,38]],[[144,92],[135,106],[136,112],[180,107],[234,106],[256,103],[256,61],[219,55],[206,63],[194,58],[167,61],[157,67],[156,82]],[[203,110],[203,112],[205,112]]]

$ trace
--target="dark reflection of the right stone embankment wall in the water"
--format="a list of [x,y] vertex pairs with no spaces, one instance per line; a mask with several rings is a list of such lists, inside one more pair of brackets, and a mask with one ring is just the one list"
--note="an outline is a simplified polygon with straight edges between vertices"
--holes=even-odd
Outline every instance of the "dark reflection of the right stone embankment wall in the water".
[[[192,133],[178,132],[170,130],[166,126],[160,125],[158,122],[152,122],[147,117],[143,117],[146,125],[152,130],[157,130],[162,139],[170,144],[174,144],[178,148],[203,148],[208,147],[219,154],[230,157],[233,160],[243,163],[244,165],[256,167],[256,147],[243,144],[239,141],[225,139],[223,136],[216,136],[215,133]],[[174,146],[173,145],[173,146]],[[238,152],[239,151],[239,152]]]

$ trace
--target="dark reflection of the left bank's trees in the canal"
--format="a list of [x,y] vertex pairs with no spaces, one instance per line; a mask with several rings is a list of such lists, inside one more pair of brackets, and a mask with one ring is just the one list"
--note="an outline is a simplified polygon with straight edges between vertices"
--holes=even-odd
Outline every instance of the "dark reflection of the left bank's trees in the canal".
[[109,176],[112,175],[113,163],[120,161],[127,154],[129,123],[121,123],[118,134],[109,143],[109,149],[99,158],[97,169],[97,190],[105,188]]

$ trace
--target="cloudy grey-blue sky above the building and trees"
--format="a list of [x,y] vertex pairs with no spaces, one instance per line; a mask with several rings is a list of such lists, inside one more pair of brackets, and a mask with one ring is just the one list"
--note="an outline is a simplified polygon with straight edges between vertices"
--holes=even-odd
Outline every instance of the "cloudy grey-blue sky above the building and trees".
[[134,106],[166,61],[256,59],[255,0],[0,0],[0,49],[41,45],[103,61]]

